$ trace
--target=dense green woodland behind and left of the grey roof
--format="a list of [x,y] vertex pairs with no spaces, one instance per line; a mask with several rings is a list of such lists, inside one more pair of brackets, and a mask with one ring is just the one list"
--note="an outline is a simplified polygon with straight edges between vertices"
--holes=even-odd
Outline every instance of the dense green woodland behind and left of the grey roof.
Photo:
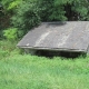
[[42,21],[89,20],[89,0],[0,0],[0,38],[16,40]]

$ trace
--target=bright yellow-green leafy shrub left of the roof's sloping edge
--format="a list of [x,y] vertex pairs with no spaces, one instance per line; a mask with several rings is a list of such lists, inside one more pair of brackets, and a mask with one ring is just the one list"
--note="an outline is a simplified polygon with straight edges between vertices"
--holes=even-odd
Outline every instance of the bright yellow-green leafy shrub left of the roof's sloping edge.
[[3,36],[8,40],[16,40],[18,38],[18,29],[17,28],[9,28],[7,30],[3,30]]

